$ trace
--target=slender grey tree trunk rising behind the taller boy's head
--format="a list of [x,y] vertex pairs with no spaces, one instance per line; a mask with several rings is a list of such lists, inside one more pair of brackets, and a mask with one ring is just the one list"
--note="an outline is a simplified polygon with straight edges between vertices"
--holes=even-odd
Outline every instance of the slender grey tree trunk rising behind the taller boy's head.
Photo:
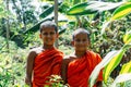
[[[58,0],[55,0],[55,23],[57,24],[58,27]],[[55,46],[58,48],[58,39],[56,40]]]

